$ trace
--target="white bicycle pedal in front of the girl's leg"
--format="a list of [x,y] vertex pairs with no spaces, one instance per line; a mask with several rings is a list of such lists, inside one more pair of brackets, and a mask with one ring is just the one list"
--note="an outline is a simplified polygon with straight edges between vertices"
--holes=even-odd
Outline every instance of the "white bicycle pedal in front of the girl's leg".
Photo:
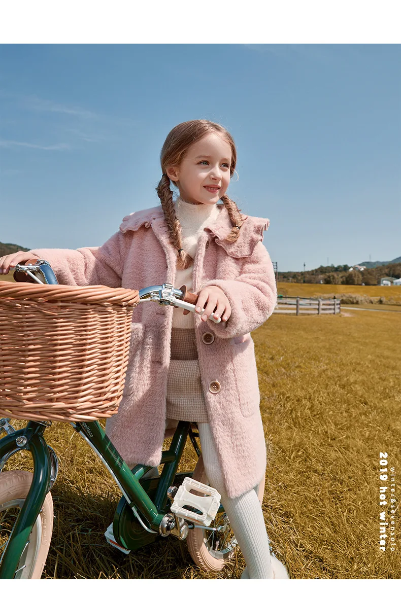
[[[206,497],[190,493],[189,491],[191,491],[191,489],[203,493]],[[221,495],[216,489],[203,485],[203,483],[186,476],[182,485],[179,486],[178,491],[174,495],[174,501],[171,504],[171,512],[176,514],[179,518],[185,518],[186,520],[209,526],[210,522],[212,522],[218,512],[220,500]],[[193,512],[184,506],[197,509],[201,513],[198,514]]]

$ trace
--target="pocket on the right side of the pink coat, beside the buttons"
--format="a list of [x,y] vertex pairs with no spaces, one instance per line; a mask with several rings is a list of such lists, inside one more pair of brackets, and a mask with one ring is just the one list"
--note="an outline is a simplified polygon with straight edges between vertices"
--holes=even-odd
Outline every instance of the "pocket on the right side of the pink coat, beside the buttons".
[[234,376],[237,382],[240,410],[243,416],[252,416],[259,409],[260,404],[254,340],[248,333],[235,337],[232,341]]

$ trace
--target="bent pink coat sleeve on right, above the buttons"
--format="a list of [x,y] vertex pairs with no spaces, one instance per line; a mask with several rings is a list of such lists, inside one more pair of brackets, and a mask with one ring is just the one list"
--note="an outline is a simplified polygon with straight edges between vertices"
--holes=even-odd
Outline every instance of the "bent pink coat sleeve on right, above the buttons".
[[276,277],[269,253],[259,241],[245,259],[240,275],[234,280],[213,279],[201,289],[216,285],[227,295],[231,316],[227,322],[206,323],[217,337],[230,338],[254,331],[273,313],[277,303]]

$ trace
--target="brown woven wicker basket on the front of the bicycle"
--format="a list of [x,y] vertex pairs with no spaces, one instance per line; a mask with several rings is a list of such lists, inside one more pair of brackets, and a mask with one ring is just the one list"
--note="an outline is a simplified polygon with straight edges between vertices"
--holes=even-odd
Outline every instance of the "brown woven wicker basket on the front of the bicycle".
[[138,303],[132,289],[0,282],[0,416],[115,414]]

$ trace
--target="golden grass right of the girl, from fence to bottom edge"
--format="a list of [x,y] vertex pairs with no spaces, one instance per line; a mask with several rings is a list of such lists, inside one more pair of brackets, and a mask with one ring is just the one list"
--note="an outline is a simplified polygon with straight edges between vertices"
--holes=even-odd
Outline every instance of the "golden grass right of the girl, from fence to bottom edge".
[[379,452],[400,466],[400,333],[398,314],[355,310],[276,314],[253,334],[268,528],[295,578],[401,577],[401,547],[378,549]]

